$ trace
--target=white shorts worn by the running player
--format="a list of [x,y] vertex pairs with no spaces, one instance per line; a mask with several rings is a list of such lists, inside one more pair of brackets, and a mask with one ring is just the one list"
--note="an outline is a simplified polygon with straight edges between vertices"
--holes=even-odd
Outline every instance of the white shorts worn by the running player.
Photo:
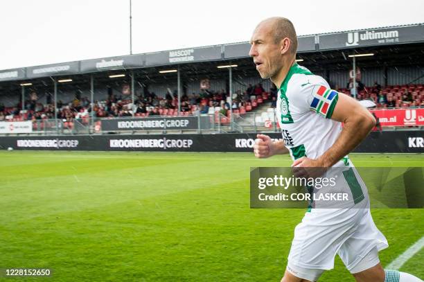
[[388,246],[369,209],[312,209],[294,229],[287,270],[316,281],[324,270],[333,269],[338,254],[357,273],[375,266],[378,251]]

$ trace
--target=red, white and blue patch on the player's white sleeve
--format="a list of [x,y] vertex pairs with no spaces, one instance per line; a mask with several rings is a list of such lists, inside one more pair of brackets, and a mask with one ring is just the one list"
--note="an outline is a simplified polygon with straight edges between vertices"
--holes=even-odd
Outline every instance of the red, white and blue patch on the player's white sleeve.
[[337,91],[322,85],[317,85],[312,90],[312,96],[313,99],[312,103],[310,103],[310,109],[326,118],[331,118],[339,98]]

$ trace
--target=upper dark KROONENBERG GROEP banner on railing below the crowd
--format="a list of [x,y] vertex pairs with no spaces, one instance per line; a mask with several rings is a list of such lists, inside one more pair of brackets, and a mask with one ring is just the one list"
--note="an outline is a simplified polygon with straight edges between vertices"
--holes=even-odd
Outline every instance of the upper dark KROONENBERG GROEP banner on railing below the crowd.
[[101,128],[105,131],[135,130],[197,130],[197,116],[169,118],[111,118],[102,119]]

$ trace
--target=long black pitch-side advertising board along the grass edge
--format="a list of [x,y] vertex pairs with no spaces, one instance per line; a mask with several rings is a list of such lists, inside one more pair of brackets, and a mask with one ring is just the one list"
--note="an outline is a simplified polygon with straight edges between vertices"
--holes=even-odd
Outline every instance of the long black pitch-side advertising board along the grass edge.
[[[270,133],[273,139],[281,134]],[[3,136],[0,149],[160,152],[252,152],[256,134],[112,134],[74,136]],[[424,132],[371,132],[354,152],[423,153]]]

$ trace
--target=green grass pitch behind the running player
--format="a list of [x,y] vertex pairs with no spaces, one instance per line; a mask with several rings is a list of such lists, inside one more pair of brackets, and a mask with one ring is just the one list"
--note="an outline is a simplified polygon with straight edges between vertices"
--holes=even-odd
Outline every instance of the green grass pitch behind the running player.
[[[422,155],[351,155],[356,166],[423,166]],[[249,209],[249,167],[288,156],[0,152],[0,269],[19,281],[279,281],[305,210]],[[387,265],[424,233],[422,209],[376,209]],[[401,270],[424,278],[424,249]],[[1,278],[4,281],[18,279]],[[338,257],[320,281],[353,281]]]

